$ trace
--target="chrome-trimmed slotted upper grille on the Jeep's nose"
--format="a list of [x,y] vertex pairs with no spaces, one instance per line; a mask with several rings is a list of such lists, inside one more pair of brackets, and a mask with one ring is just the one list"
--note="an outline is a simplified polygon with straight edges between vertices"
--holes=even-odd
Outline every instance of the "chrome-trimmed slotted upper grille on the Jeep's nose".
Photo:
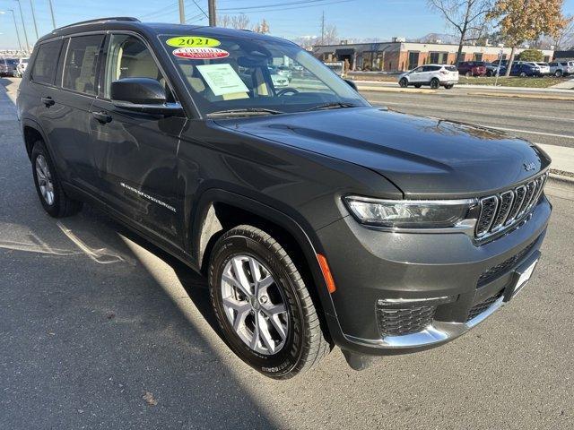
[[481,199],[476,236],[483,239],[515,225],[540,200],[548,173],[524,185]]

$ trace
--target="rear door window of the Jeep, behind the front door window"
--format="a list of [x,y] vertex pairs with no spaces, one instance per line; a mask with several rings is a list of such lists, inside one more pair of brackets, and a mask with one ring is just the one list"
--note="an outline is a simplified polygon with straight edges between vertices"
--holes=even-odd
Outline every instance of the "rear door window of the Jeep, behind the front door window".
[[62,86],[84,94],[96,94],[96,66],[103,35],[70,39],[65,55]]

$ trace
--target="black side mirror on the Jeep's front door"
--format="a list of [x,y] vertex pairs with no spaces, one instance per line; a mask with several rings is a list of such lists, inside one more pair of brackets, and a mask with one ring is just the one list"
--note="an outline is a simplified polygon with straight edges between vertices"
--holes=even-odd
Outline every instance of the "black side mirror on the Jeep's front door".
[[156,115],[180,115],[179,103],[167,103],[165,89],[152,78],[124,78],[111,82],[110,98],[115,107]]

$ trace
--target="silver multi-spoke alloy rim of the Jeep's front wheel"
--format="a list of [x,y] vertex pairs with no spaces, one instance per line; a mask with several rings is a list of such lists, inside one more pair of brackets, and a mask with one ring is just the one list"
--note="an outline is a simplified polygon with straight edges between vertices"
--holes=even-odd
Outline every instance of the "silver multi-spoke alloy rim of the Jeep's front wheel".
[[265,264],[250,255],[234,255],[222,273],[222,305],[233,331],[263,355],[278,353],[290,329],[283,290]]

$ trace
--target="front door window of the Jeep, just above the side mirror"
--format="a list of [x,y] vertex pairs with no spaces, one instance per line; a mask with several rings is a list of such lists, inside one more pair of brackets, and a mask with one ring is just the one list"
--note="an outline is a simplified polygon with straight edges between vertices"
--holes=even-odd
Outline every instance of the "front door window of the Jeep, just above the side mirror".
[[[110,98],[111,82],[124,78],[151,78],[166,88],[152,53],[142,40],[128,34],[112,34],[106,56],[104,97]],[[170,91],[167,91],[170,92]]]

